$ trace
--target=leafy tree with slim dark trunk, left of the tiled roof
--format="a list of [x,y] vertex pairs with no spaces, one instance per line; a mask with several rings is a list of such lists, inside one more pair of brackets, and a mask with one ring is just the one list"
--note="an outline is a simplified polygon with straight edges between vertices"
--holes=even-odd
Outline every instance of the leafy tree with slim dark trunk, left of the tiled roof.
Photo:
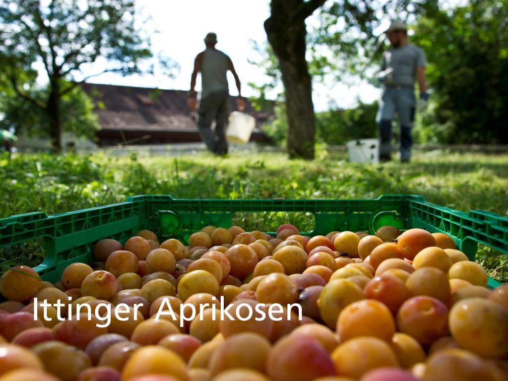
[[[72,81],[83,65],[104,57],[110,66]],[[0,64],[7,85],[19,98],[44,113],[54,151],[61,149],[62,100],[86,79],[105,72],[122,75],[149,71],[149,41],[135,24],[129,0],[0,1]],[[35,92],[23,86],[35,63],[41,62],[48,85]],[[163,62],[167,67],[167,62]],[[29,86],[28,86],[29,88]]]

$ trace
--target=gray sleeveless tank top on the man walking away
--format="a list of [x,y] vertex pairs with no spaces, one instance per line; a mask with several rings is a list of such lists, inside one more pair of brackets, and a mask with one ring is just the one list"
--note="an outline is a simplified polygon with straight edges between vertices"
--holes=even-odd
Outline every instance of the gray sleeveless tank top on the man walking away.
[[201,63],[201,98],[205,98],[210,92],[229,90],[228,56],[216,49],[206,49],[203,52]]

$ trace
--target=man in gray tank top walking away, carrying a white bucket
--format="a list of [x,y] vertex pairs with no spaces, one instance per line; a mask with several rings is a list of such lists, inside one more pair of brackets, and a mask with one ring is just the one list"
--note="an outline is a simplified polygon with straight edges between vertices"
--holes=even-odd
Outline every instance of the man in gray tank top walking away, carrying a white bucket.
[[[187,99],[190,109],[196,110],[196,77],[201,72],[202,92],[198,110],[198,130],[207,148],[215,154],[228,153],[225,128],[228,119],[229,87],[227,72],[231,70],[238,89],[237,106],[243,111],[245,105],[240,92],[240,79],[231,59],[215,49],[217,36],[209,33],[205,37],[206,49],[194,61],[194,71],[190,79],[190,92]],[[215,133],[211,130],[215,120]]]

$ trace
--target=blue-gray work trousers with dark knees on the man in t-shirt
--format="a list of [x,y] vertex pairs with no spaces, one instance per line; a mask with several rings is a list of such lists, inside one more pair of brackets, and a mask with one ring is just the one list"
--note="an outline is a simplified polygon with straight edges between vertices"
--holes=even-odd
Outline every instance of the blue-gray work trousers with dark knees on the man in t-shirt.
[[400,158],[411,157],[411,127],[415,119],[415,90],[411,87],[385,87],[379,102],[379,156],[388,157],[392,152],[392,120],[397,113],[400,124]]

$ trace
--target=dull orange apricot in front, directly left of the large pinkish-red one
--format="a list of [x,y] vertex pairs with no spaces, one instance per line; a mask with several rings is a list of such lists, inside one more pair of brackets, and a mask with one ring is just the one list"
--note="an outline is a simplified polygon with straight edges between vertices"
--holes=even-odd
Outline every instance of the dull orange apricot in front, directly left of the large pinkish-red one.
[[212,376],[229,369],[242,368],[265,371],[270,341],[253,332],[228,337],[214,351],[208,364]]

